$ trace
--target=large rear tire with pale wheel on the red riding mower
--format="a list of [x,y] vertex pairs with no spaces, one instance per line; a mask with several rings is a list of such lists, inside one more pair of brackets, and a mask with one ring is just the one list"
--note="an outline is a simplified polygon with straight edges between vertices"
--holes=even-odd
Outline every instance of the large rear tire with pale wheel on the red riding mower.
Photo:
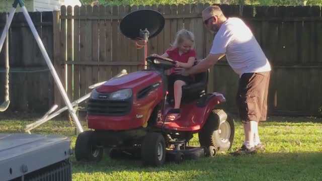
[[217,152],[225,152],[231,148],[234,134],[233,118],[223,110],[213,110],[198,133],[199,143],[206,149],[214,146]]

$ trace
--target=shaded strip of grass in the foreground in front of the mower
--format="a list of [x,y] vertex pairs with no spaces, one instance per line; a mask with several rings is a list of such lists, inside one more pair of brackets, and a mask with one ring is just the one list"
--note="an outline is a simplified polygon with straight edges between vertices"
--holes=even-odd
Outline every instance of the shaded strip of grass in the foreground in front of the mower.
[[[258,153],[245,156],[217,155],[214,158],[186,160],[180,164],[166,162],[161,167],[144,167],[139,159],[111,159],[105,155],[98,163],[73,161],[73,173],[114,174],[116,172],[190,172],[201,171],[196,179],[211,177],[234,179],[314,180],[322,177],[322,152],[315,153]],[[268,177],[267,177],[268,176]]]

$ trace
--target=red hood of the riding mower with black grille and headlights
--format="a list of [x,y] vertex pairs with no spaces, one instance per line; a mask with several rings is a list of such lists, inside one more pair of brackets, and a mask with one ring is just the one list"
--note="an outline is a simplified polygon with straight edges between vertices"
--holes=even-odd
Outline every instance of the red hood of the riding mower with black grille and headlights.
[[93,90],[88,102],[88,127],[129,130],[146,127],[166,94],[157,71],[137,71],[112,79]]

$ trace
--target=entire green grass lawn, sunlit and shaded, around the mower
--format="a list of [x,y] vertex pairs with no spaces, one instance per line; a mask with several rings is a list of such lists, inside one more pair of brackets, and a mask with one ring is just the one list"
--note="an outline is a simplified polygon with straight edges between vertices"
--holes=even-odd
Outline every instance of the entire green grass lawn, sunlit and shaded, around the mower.
[[[0,121],[0,133],[18,133],[35,119],[15,118]],[[266,151],[256,155],[233,157],[218,154],[214,158],[189,160],[181,164],[167,162],[159,168],[143,167],[140,160],[114,160],[104,156],[99,163],[76,162],[73,180],[321,180],[322,119],[271,117],[260,124]],[[82,122],[86,130],[86,123]],[[243,127],[236,121],[232,150],[241,146]],[[33,134],[60,134],[75,144],[74,128],[68,121],[49,121],[32,130]],[[198,135],[190,142],[198,145]]]

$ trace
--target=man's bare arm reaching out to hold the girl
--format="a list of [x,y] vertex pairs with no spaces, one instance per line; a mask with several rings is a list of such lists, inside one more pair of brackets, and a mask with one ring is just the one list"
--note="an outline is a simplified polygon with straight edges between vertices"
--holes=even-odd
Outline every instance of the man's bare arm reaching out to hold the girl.
[[222,58],[225,55],[225,53],[220,54],[209,54],[205,59],[203,59],[200,63],[197,65],[189,68],[186,73],[188,74],[195,74],[199,72],[205,72],[207,71],[211,66],[217,63],[217,61]]

